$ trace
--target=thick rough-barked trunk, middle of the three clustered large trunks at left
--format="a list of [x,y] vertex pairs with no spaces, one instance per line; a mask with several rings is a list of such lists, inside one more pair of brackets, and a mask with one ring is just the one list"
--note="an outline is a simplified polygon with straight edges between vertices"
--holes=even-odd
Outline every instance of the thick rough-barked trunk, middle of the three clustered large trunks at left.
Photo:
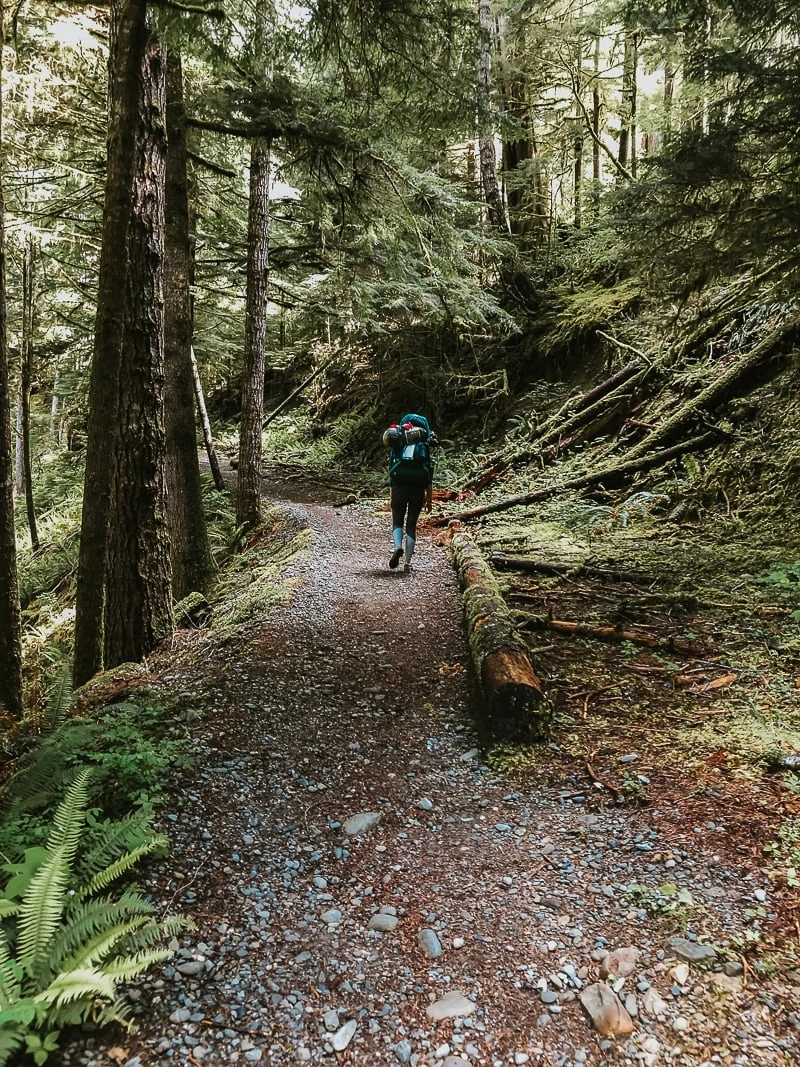
[[128,228],[119,426],[109,523],[105,664],[137,662],[173,630],[164,500],[163,48],[150,39],[141,66]]

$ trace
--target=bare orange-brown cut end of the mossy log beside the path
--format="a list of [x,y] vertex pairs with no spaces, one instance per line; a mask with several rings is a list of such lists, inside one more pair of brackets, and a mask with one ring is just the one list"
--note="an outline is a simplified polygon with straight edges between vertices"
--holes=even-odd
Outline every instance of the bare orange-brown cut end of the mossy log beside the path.
[[502,649],[485,656],[481,665],[487,732],[496,740],[539,744],[547,740],[553,708],[528,657]]

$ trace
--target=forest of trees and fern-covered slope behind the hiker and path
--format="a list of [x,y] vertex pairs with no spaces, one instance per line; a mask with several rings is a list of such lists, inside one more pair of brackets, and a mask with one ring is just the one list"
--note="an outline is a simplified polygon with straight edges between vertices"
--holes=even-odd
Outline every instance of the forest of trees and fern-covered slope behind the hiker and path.
[[377,491],[401,409],[451,513],[665,468],[796,580],[799,51],[791,0],[4,9],[6,774],[64,665],[208,591],[267,459]]

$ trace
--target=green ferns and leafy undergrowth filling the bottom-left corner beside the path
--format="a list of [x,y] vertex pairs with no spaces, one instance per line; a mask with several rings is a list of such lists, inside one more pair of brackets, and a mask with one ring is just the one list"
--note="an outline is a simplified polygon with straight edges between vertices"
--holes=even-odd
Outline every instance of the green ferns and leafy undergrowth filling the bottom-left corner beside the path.
[[[196,713],[163,694],[118,690],[73,699],[62,669],[28,732],[3,738],[15,754],[0,789],[0,1067],[27,1054],[44,1064],[65,1028],[129,1023],[118,987],[172,954],[191,927],[156,915],[134,882],[167,841],[154,812],[191,764]],[[110,702],[109,702],[110,701]]]

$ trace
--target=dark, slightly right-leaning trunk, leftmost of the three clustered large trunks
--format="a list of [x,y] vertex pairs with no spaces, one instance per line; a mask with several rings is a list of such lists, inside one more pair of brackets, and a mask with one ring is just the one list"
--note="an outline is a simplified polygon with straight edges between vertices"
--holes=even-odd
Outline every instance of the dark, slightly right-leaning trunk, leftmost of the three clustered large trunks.
[[109,132],[106,197],[89,386],[86,471],[75,605],[74,681],[82,685],[103,664],[107,528],[111,510],[112,458],[118,426],[119,362],[125,262],[133,188],[139,83],[147,42],[145,0],[121,0],[113,11],[109,64]]

